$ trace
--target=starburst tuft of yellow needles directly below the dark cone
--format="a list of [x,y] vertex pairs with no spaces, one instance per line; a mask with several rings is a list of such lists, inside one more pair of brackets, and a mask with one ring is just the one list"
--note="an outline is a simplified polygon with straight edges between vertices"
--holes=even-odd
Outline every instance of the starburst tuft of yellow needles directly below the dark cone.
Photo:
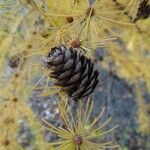
[[[113,144],[112,141],[100,141],[99,143],[93,142],[95,138],[100,138],[101,136],[112,132],[117,127],[115,126],[108,130],[105,129],[111,118],[108,118],[98,127],[95,126],[98,123],[98,120],[102,117],[105,108],[103,108],[99,115],[92,119],[92,121],[90,122],[90,117],[93,111],[93,102],[91,102],[90,99],[88,99],[84,108],[83,104],[80,103],[76,112],[72,112],[65,101],[61,102],[59,107],[61,111],[61,119],[64,123],[65,128],[56,128],[47,121],[43,120],[43,122],[45,123],[45,128],[57,134],[59,138],[61,138],[59,141],[50,143],[50,145],[56,146],[56,150],[103,150],[106,148],[116,149],[119,147],[119,145]],[[74,117],[74,113],[77,114],[77,118]]]

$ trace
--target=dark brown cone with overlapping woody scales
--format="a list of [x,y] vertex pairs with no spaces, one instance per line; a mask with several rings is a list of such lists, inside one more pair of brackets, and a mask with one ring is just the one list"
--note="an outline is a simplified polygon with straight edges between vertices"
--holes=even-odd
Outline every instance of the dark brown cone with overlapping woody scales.
[[98,84],[98,71],[79,48],[54,47],[44,61],[50,69],[49,76],[55,79],[54,85],[74,100],[88,96]]

